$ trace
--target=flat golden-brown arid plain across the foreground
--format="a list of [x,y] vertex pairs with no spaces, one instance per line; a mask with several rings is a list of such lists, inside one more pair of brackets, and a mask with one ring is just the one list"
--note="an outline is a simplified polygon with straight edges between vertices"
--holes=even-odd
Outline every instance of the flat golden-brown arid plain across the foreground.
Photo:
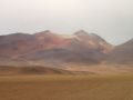
[[0,100],[133,100],[133,76],[1,76]]

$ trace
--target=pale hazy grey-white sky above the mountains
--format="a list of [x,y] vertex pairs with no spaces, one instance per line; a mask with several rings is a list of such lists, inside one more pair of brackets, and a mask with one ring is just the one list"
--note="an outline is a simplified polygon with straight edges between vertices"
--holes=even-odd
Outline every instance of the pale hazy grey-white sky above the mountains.
[[0,34],[95,32],[113,44],[133,38],[133,0],[0,0]]

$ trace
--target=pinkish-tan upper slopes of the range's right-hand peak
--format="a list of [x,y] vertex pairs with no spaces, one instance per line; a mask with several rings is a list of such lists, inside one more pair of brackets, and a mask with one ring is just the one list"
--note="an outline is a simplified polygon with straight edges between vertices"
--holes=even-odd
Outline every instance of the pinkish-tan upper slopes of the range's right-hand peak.
[[78,40],[82,42],[82,44],[86,44],[90,49],[95,49],[103,53],[108,53],[112,48],[110,43],[95,33],[88,33],[84,30],[80,30],[74,34],[78,37]]

